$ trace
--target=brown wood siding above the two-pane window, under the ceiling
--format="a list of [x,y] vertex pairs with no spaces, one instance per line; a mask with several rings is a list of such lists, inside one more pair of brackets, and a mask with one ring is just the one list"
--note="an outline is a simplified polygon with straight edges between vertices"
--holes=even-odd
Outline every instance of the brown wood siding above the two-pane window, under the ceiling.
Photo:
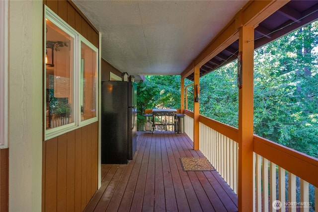
[[97,29],[88,21],[88,19],[72,1],[43,0],[43,3],[98,48]]

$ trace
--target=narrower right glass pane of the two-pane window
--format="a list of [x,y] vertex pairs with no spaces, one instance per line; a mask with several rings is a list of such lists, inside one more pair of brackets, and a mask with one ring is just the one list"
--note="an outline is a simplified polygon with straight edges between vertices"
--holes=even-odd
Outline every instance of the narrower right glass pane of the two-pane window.
[[97,53],[81,42],[81,121],[96,117]]

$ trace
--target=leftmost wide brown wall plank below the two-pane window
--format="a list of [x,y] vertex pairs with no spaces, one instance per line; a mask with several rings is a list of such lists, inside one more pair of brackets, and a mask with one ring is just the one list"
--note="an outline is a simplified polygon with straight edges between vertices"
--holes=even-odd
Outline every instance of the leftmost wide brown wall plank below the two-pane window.
[[45,163],[45,211],[57,211],[57,137],[46,141]]

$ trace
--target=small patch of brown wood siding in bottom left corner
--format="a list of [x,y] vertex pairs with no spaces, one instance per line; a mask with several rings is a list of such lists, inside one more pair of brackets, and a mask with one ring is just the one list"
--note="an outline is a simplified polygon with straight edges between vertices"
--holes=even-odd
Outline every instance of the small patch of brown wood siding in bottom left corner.
[[9,149],[0,149],[0,212],[8,211]]

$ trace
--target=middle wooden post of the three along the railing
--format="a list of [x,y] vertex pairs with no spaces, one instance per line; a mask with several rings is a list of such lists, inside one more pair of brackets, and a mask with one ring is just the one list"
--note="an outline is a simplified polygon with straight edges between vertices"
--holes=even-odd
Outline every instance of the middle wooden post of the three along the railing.
[[[198,89],[198,90],[197,90]],[[194,105],[193,105],[193,149],[200,149],[200,100],[199,100],[199,90],[200,90],[200,67],[194,67]],[[197,99],[197,100],[196,100]]]

